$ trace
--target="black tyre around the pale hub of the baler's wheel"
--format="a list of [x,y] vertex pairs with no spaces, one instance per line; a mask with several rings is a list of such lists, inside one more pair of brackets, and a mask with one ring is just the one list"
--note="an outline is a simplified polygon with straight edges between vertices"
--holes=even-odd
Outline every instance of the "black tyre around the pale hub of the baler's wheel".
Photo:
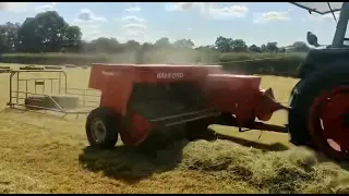
[[[95,123],[101,123],[105,134],[101,140],[96,140],[94,136]],[[86,135],[92,147],[113,148],[118,142],[118,117],[109,108],[96,108],[89,112],[86,121]]]

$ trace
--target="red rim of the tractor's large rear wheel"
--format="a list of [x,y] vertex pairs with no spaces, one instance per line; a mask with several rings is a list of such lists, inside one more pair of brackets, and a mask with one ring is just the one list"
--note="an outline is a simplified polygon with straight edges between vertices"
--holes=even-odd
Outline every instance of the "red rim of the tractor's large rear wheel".
[[310,111],[309,130],[315,145],[330,148],[339,158],[349,156],[348,100],[349,87],[338,87],[317,97]]

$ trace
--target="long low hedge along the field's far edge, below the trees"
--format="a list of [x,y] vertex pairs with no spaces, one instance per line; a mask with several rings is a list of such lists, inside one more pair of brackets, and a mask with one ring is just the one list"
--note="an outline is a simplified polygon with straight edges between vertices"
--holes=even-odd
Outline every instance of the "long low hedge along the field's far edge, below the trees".
[[305,53],[218,53],[218,52],[136,52],[118,54],[75,53],[5,53],[1,63],[39,65],[89,65],[92,63],[170,63],[170,64],[220,64],[237,74],[262,74],[297,77],[297,69]]

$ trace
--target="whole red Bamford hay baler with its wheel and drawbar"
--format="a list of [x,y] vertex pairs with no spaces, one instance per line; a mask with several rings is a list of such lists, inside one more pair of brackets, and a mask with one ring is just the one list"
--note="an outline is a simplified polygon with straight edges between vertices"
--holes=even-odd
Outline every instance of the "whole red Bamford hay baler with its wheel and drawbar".
[[89,87],[101,98],[87,118],[87,138],[113,147],[118,134],[128,146],[166,140],[180,130],[190,140],[219,137],[209,124],[287,132],[255,122],[288,109],[260,84],[258,76],[226,74],[220,65],[93,64]]

